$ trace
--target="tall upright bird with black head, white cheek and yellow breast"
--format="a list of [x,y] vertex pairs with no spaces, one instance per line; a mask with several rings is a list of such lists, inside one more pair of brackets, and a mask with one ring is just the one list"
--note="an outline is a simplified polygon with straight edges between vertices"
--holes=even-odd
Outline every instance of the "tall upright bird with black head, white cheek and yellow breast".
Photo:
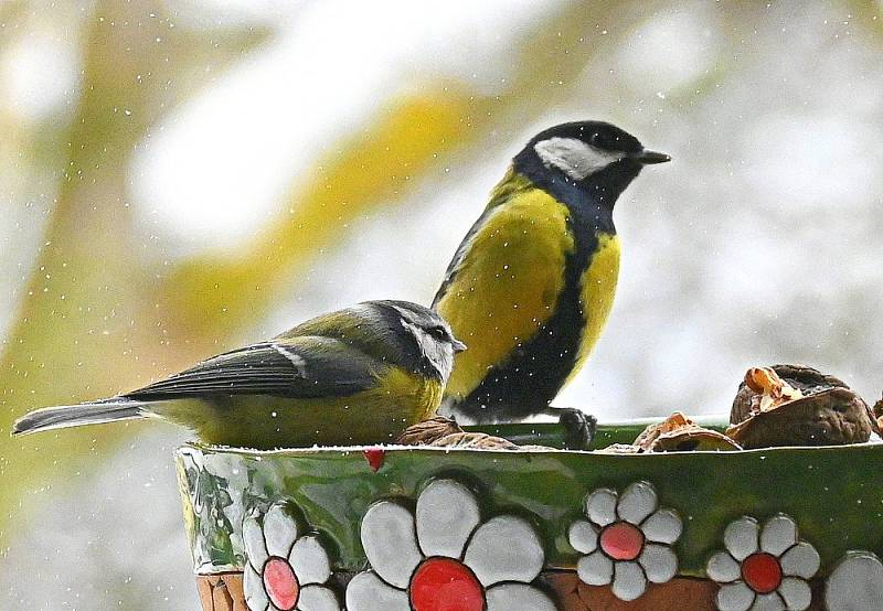
[[614,204],[645,165],[669,160],[599,121],[546,129],[513,158],[433,301],[470,347],[455,360],[444,412],[475,422],[554,412],[576,427],[571,443],[579,444],[591,420],[550,403],[614,301]]

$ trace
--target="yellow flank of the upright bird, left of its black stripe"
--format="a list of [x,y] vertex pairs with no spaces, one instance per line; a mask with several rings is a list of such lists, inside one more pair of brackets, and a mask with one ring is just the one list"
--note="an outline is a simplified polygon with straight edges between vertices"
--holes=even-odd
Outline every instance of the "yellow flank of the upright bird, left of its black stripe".
[[469,350],[446,394],[468,395],[552,317],[574,251],[568,213],[540,189],[489,207],[464,239],[433,307]]

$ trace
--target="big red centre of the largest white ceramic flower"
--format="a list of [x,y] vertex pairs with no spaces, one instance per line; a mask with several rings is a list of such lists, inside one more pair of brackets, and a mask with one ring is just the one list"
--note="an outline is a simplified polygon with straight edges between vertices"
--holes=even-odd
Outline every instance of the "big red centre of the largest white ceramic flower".
[[451,558],[427,558],[411,578],[414,611],[481,611],[485,590],[476,575]]

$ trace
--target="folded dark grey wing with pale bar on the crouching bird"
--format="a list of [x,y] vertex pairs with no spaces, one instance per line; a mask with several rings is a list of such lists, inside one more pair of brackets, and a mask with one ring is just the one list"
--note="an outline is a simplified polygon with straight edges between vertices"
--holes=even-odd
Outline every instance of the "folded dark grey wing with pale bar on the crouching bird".
[[137,400],[204,395],[341,397],[372,387],[382,368],[338,340],[301,336],[220,354],[125,396]]

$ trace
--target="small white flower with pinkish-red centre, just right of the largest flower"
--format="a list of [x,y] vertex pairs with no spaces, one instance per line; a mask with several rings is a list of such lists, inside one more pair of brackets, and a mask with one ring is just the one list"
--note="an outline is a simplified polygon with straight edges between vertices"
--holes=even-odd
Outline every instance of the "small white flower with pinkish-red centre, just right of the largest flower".
[[658,508],[653,486],[636,482],[620,495],[602,487],[586,496],[588,522],[571,525],[568,538],[585,554],[576,572],[589,586],[613,583],[620,600],[635,600],[647,582],[664,583],[678,572],[678,557],[671,545],[683,529],[673,510]]

